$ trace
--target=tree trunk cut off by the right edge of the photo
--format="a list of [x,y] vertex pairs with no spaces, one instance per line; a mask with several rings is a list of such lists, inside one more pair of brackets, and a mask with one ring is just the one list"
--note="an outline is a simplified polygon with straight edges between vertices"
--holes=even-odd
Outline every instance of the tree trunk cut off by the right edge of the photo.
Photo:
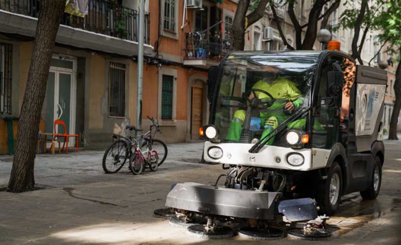
[[[401,54],[401,48],[399,50]],[[393,114],[390,119],[390,129],[388,131],[389,140],[398,140],[397,137],[397,123],[401,109],[401,62],[398,63],[396,70],[396,81],[394,82],[394,91],[396,94],[396,101],[394,103]]]

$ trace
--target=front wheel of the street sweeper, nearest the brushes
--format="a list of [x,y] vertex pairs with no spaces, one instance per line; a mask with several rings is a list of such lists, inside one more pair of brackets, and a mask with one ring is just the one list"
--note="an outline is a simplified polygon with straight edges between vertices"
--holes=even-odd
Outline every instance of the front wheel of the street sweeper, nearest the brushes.
[[341,167],[334,162],[327,173],[327,179],[318,187],[317,203],[321,214],[333,214],[340,204],[343,190]]

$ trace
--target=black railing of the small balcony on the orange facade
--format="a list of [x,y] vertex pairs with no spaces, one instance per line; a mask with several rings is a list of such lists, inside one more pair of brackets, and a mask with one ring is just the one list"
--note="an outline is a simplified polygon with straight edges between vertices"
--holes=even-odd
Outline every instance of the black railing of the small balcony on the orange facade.
[[228,40],[220,38],[218,35],[194,32],[186,33],[186,59],[209,59],[220,61],[230,50]]

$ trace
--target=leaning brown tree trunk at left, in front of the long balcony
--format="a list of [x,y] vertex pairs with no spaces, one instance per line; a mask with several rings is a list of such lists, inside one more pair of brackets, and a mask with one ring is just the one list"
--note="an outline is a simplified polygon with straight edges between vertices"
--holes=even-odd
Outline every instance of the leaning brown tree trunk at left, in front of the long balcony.
[[40,114],[54,42],[65,4],[65,0],[40,1],[34,52],[18,120],[16,153],[7,188],[9,192],[25,192],[35,187],[35,151]]

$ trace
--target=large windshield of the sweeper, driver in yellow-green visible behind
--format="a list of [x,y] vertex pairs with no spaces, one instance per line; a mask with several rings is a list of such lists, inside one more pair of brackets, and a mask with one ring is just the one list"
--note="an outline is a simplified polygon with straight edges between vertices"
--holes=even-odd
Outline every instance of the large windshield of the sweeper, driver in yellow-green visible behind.
[[[212,121],[223,142],[255,143],[297,110],[309,106],[320,52],[241,52],[227,57]],[[305,130],[298,118],[288,128]],[[282,132],[282,133],[285,133]],[[279,137],[267,144],[285,144]]]

